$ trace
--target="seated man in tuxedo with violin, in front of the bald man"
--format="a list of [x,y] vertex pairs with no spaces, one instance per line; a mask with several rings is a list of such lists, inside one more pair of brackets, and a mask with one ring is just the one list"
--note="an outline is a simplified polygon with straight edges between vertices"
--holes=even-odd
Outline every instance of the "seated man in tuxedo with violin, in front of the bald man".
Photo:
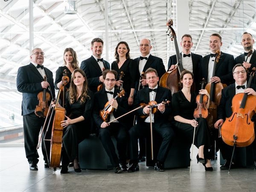
[[[158,134],[163,139],[159,151],[154,152],[154,154],[157,154],[154,157],[154,160],[156,161],[155,170],[163,172],[163,163],[166,160],[172,137],[174,137],[174,131],[171,128],[171,123],[168,121],[168,116],[171,114],[172,111],[171,105],[165,106],[161,102],[166,99],[171,101],[172,94],[169,89],[160,87],[157,84],[157,82],[159,81],[159,77],[157,76],[157,71],[155,69],[148,68],[145,71],[145,77],[148,87],[145,87],[138,91],[134,102],[134,108],[140,106],[140,103],[148,104],[150,101],[156,101],[158,103],[158,111],[151,115],[151,120],[154,134]],[[128,169],[128,172],[135,172],[140,169],[138,165],[138,138],[150,135],[150,106],[146,105],[144,108],[138,109],[136,113],[138,116],[144,115],[147,117],[138,117],[137,125],[134,125],[128,132],[131,151],[131,167]]]

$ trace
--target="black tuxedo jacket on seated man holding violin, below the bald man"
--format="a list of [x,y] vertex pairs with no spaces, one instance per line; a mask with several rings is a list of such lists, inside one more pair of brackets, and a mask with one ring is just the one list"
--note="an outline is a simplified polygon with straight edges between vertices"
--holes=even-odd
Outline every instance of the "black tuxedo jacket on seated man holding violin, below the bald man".
[[[157,87],[157,93],[156,93],[156,97],[155,97],[155,101],[157,103],[161,103],[165,100],[168,100],[170,102],[172,102],[172,93],[169,89],[166,89],[164,87]],[[135,101],[134,101],[134,108],[137,108],[140,106],[140,103],[145,103],[148,104],[149,101],[149,90],[148,87],[145,87],[141,90],[138,91],[136,97],[135,97]],[[137,115],[138,115],[138,123],[140,122],[144,122],[145,119],[139,117],[143,114],[143,108],[140,108],[136,111]],[[159,124],[166,124],[168,122],[168,118],[169,115],[172,113],[172,105],[166,105],[166,109],[163,113],[161,113],[160,111],[157,111],[156,113],[154,113],[154,122],[155,123],[159,123]]]

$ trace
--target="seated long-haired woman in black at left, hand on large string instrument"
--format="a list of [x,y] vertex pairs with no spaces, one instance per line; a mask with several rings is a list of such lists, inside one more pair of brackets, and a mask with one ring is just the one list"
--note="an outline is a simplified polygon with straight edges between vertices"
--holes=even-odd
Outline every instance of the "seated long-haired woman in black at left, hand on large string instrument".
[[67,173],[67,166],[70,162],[74,163],[75,172],[81,172],[78,161],[78,144],[90,134],[93,96],[93,92],[88,88],[84,71],[74,70],[70,89],[67,92],[67,119],[61,122],[61,126],[64,127],[61,173]]

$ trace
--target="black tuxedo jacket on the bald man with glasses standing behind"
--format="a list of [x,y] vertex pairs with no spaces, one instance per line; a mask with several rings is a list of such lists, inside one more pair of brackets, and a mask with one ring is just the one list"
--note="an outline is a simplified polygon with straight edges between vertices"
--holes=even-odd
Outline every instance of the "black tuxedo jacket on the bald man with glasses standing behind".
[[[134,65],[136,66],[136,81],[140,81],[140,71],[139,71],[139,61],[140,57],[134,59]],[[145,72],[149,67],[157,70],[159,79],[166,73],[165,67],[163,65],[163,59],[149,55],[148,60],[143,68],[143,72]]]

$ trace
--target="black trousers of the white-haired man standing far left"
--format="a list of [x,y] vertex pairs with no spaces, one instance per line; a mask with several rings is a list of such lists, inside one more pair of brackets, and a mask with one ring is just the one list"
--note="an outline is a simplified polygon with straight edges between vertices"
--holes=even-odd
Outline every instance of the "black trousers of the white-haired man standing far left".
[[[44,125],[44,121],[45,118],[38,117],[35,115],[35,113],[30,113],[23,116],[24,145],[26,158],[28,159],[29,163],[38,163],[39,161],[37,145],[39,133]],[[47,153],[43,138],[44,135],[42,137],[42,152],[44,155],[44,161],[47,162]]]

